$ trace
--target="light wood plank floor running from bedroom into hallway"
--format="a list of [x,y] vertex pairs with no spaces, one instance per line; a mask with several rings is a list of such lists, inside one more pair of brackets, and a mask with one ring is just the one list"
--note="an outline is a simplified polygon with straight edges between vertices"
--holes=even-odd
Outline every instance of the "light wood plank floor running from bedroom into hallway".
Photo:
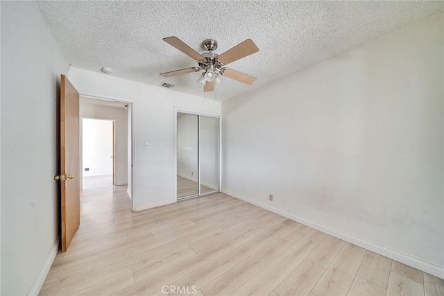
[[132,213],[126,187],[99,183],[81,203],[40,295],[444,295],[442,279],[222,193]]

